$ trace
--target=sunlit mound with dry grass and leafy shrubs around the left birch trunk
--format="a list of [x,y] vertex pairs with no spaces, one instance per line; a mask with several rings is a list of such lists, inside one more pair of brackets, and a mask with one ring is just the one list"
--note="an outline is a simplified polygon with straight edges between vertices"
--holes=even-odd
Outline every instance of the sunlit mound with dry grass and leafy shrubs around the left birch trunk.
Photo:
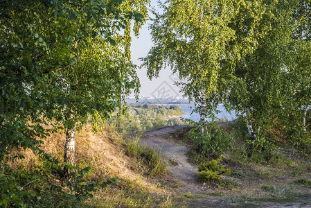
[[[28,150],[22,153],[26,155],[24,159],[11,160],[8,155],[6,164],[0,166],[0,207],[172,207],[175,204],[154,182],[155,176],[167,171],[159,152],[137,143],[127,144],[113,128],[106,128],[105,137],[84,128],[76,135],[77,167],[69,180],[62,177],[62,169],[74,167],[59,162],[64,157],[62,141],[63,132],[46,138],[44,150],[51,153],[46,158]],[[154,179],[144,177],[140,169]]]

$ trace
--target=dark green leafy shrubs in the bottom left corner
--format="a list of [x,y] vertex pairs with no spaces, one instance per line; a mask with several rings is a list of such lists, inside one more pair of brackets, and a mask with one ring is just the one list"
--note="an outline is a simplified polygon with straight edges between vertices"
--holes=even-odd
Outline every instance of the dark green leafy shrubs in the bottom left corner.
[[[64,167],[75,170],[70,180],[57,175]],[[42,166],[36,166],[31,173],[3,164],[0,168],[0,206],[83,207],[85,200],[92,197],[92,191],[116,182],[116,178],[88,182],[85,174],[89,171],[89,167],[60,164],[49,155],[42,159]]]

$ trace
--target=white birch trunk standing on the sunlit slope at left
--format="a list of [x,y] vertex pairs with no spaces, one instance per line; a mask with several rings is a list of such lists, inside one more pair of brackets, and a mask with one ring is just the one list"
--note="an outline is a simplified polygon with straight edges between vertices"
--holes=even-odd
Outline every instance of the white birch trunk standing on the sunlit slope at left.
[[[69,113],[69,119],[71,118],[71,113]],[[75,125],[73,128],[67,128],[66,131],[66,144],[64,148],[64,162],[67,164],[75,165]],[[64,175],[69,177],[71,170],[64,168]]]

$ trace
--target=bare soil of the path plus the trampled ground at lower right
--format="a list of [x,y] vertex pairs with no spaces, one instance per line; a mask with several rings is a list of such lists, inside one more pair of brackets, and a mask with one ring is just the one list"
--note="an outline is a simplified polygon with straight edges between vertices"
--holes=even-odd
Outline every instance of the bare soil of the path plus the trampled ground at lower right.
[[[226,124],[222,123],[222,125]],[[230,168],[245,173],[238,178],[230,177],[231,181],[236,182],[235,185],[215,188],[198,182],[197,166],[189,162],[187,154],[189,146],[181,144],[173,137],[173,135],[179,135],[184,128],[188,126],[168,126],[145,132],[145,137],[141,139],[141,144],[159,149],[170,164],[168,180],[179,184],[172,190],[173,195],[178,198],[178,207],[311,207],[311,190],[299,186],[293,188],[295,178],[290,177],[290,173],[269,176],[270,172],[260,170],[256,172],[251,168],[245,170],[245,168],[229,164]],[[310,174],[304,177],[309,178]],[[263,190],[263,186],[276,188],[269,192]],[[292,193],[292,197],[282,195],[284,191],[288,191],[286,186],[289,186],[290,190],[296,190]],[[278,193],[280,193],[279,197]],[[275,197],[271,197],[272,195]]]

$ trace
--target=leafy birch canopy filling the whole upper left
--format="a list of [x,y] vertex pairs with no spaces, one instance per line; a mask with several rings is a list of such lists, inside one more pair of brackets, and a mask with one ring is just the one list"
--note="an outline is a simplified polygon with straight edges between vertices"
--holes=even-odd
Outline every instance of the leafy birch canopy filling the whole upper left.
[[[145,21],[148,1],[1,1],[1,159],[12,148],[40,150],[48,130],[69,128],[123,107],[138,91],[129,61],[130,20]],[[124,32],[125,31],[125,32]],[[69,144],[68,142],[67,144]],[[73,143],[71,143],[73,146]],[[66,154],[66,162],[73,157]],[[71,161],[71,162],[70,162]]]

